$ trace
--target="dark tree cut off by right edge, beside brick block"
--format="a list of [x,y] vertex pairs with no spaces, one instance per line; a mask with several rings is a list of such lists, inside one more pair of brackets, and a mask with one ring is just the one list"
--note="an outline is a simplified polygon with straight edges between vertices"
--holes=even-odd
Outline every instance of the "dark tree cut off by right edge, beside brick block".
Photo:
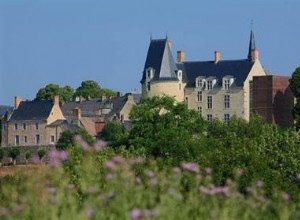
[[297,99],[297,103],[293,108],[293,117],[296,129],[300,129],[300,67],[296,68],[290,79],[290,88]]

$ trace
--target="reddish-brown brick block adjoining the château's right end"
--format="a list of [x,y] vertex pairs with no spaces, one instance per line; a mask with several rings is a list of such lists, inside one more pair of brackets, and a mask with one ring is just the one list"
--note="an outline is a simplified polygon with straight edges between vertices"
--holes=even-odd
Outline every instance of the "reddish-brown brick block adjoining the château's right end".
[[283,127],[293,126],[292,109],[294,95],[289,88],[288,76],[255,76],[253,77],[252,111],[262,116],[266,122]]

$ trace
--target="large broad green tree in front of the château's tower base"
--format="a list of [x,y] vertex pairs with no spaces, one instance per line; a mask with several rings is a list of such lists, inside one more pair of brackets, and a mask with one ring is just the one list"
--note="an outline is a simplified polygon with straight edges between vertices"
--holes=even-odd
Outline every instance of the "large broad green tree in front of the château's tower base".
[[184,103],[163,96],[146,98],[130,112],[133,128],[129,142],[153,156],[189,159],[193,142],[203,135],[206,121]]

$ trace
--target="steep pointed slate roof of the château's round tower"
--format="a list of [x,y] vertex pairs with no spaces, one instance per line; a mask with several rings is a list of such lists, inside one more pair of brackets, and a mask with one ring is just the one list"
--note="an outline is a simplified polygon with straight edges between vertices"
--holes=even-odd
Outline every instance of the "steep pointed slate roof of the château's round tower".
[[146,80],[146,70],[148,68],[155,70],[152,80],[178,80],[176,77],[177,66],[168,39],[151,40],[141,83]]

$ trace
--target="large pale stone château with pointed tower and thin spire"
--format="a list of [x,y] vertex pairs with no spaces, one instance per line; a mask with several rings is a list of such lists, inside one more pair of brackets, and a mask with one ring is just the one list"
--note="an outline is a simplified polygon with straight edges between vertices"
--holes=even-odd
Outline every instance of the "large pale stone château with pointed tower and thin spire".
[[250,83],[253,76],[265,75],[253,31],[247,57],[237,60],[222,60],[215,51],[211,61],[185,61],[185,53],[178,51],[175,62],[167,38],[151,40],[141,79],[142,96],[172,96],[209,121],[226,121],[233,115],[249,120]]

